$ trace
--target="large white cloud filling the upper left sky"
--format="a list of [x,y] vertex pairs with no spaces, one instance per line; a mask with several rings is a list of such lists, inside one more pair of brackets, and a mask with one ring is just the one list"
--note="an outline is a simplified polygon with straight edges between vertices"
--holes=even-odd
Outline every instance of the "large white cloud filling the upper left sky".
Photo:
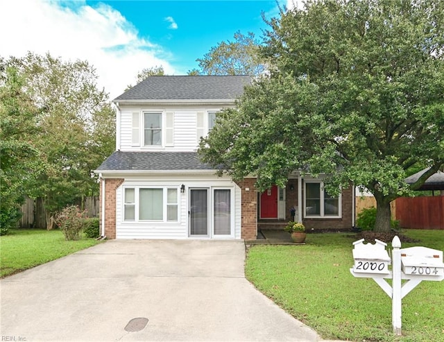
[[110,6],[10,0],[0,1],[0,12],[3,57],[22,57],[32,51],[49,52],[65,60],[87,60],[96,68],[99,87],[105,87],[111,99],[128,84],[134,85],[143,68],[162,65],[166,74],[175,74],[162,46],[139,37],[137,29]]

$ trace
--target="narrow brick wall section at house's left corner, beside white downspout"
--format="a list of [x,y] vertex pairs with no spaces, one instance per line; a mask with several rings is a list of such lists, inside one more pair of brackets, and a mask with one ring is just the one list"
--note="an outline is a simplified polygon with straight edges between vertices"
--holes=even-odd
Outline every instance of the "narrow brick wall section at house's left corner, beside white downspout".
[[[108,178],[100,182],[100,203],[102,203],[102,187],[105,181],[105,236],[116,238],[116,190],[123,183],[122,178]],[[102,205],[99,210],[100,231],[102,231]]]

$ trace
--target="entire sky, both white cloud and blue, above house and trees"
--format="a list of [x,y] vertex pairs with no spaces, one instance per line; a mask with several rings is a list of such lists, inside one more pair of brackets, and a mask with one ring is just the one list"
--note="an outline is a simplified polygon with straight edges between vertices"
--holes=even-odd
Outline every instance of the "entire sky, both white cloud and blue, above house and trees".
[[278,2],[6,0],[0,1],[0,32],[8,33],[0,35],[0,55],[32,51],[87,60],[114,99],[146,67],[184,75],[237,31],[260,38],[268,28],[262,12],[267,19],[278,16]]

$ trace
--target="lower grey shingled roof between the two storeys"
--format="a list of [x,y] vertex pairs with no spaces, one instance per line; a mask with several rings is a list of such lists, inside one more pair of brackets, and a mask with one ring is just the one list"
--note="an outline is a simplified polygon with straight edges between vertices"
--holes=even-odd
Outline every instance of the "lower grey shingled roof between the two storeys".
[[96,171],[213,170],[196,152],[116,151]]

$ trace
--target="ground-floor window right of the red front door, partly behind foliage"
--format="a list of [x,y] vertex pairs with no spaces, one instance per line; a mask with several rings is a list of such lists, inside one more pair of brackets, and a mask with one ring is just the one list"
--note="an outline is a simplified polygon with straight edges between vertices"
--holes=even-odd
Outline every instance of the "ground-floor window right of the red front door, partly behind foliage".
[[339,217],[341,201],[325,191],[323,182],[305,182],[305,217]]

